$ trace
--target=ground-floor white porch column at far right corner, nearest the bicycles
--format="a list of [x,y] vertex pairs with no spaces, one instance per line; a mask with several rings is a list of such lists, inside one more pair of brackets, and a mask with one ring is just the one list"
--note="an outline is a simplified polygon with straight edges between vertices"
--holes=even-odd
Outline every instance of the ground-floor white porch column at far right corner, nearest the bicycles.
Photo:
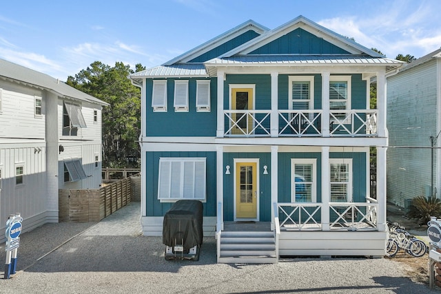
[[387,147],[377,147],[378,231],[386,231],[386,151]]

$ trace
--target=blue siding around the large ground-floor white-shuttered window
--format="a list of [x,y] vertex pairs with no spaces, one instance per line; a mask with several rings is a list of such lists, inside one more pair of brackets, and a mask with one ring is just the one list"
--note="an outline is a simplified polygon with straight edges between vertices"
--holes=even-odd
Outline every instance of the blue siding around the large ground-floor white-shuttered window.
[[173,203],[158,200],[158,171],[160,157],[207,158],[207,202],[204,216],[216,216],[216,152],[146,152],[145,153],[145,209],[147,216],[164,216]]

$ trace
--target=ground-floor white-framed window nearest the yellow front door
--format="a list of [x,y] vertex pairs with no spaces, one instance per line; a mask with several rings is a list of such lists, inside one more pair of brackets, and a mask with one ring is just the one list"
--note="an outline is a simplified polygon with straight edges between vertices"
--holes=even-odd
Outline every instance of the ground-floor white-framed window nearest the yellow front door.
[[316,202],[316,158],[291,158],[291,202]]

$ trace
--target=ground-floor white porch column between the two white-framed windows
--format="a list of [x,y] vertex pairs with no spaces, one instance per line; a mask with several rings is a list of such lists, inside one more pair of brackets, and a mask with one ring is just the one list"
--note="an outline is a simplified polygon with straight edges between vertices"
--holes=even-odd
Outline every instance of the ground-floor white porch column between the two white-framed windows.
[[322,231],[329,231],[329,146],[322,147]]

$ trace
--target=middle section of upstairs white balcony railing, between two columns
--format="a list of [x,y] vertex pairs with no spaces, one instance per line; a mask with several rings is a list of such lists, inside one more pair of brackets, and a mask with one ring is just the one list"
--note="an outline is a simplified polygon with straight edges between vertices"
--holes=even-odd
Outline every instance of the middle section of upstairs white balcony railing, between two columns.
[[321,136],[322,110],[279,110],[279,136]]

